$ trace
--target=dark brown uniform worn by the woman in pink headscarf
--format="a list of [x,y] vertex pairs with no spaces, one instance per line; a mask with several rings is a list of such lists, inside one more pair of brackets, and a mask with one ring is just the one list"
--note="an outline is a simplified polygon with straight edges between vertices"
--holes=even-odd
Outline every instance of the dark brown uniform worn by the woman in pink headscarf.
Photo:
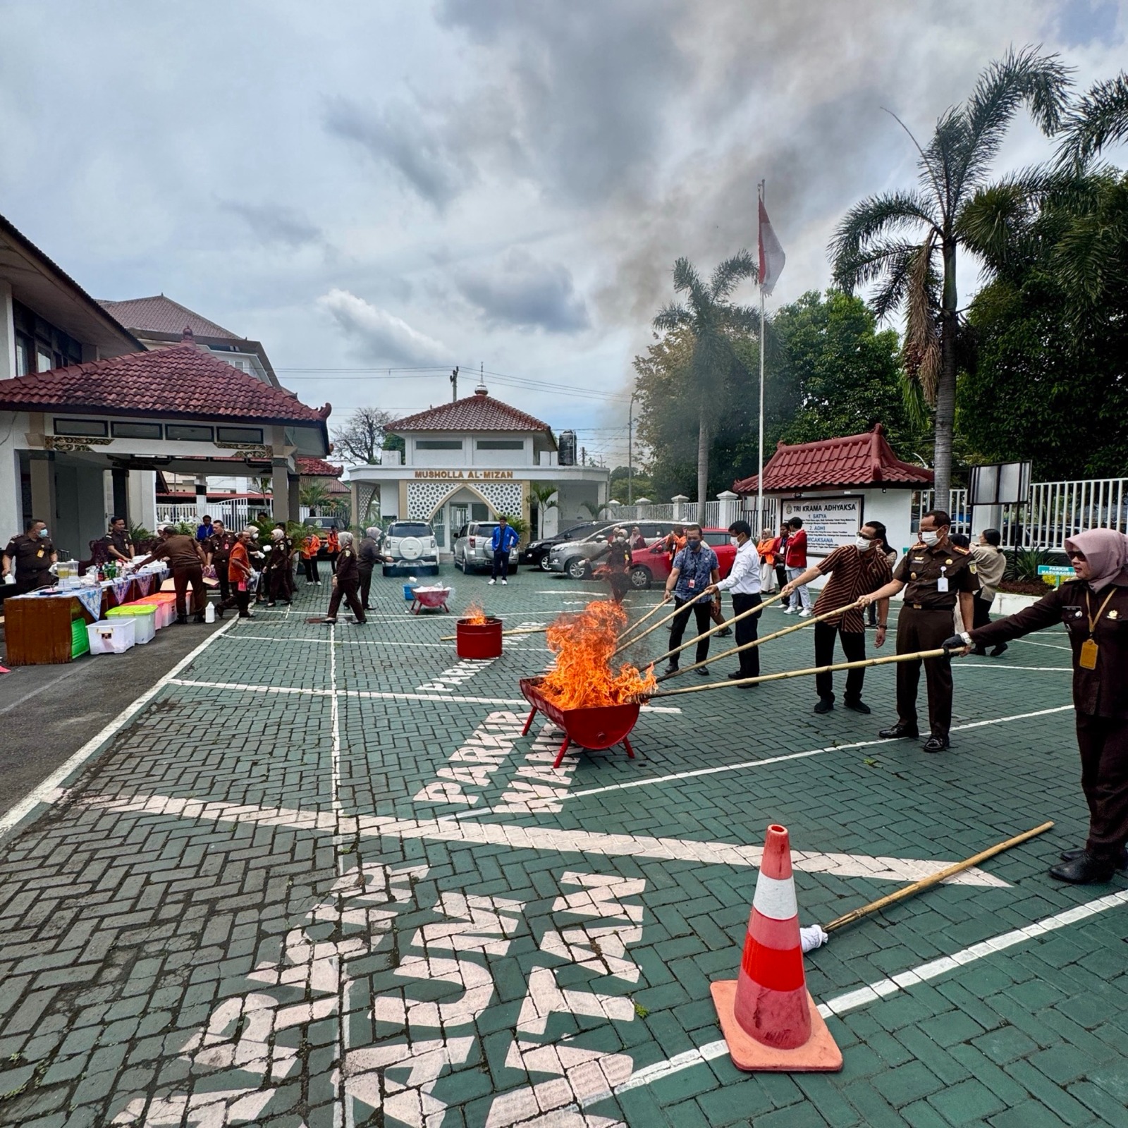
[[[1092,629],[1090,618],[1095,620]],[[1128,843],[1128,588],[1113,584],[1092,592],[1083,580],[1070,580],[1033,607],[977,627],[971,641],[997,645],[1058,623],[1073,650],[1081,786],[1089,803],[1085,848],[1100,862],[1113,862]],[[1096,654],[1086,669],[1082,647],[1090,640]]]

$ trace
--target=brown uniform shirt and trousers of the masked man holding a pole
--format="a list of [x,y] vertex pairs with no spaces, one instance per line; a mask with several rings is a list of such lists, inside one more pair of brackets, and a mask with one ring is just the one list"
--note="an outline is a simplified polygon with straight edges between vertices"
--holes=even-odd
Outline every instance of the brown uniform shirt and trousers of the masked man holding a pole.
[[[905,602],[897,618],[897,653],[938,650],[952,633],[952,611],[959,593],[979,590],[976,563],[967,548],[951,541],[929,548],[915,544],[897,565],[893,579],[906,585]],[[944,583],[943,581],[948,581]],[[946,588],[948,590],[942,590]],[[932,734],[948,739],[952,726],[952,663],[943,658],[924,662],[928,684],[928,724]],[[920,682],[920,661],[897,663],[897,717],[901,724],[917,723],[916,698]]]

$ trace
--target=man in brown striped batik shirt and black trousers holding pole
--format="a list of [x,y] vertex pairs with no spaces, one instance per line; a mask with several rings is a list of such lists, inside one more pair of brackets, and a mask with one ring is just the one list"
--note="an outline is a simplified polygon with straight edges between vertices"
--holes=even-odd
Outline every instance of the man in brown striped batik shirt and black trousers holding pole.
[[[809,567],[784,585],[784,594],[790,594],[800,584],[810,583],[820,575],[830,579],[814,601],[816,619],[836,607],[853,603],[860,596],[878,591],[892,579],[892,571],[881,553],[885,527],[876,521],[863,525],[853,545],[836,548],[821,563]],[[889,599],[881,599],[878,607],[878,637],[874,645],[885,642],[885,626],[889,622]],[[860,662],[865,658],[865,620],[862,609],[852,607],[839,616],[831,616],[814,624],[814,664],[830,666],[835,660],[835,636],[841,640],[843,653],[847,662]],[[862,685],[865,670],[860,668],[846,675],[846,696],[843,704],[855,713],[869,713],[870,706],[862,700]],[[834,675],[814,676],[814,689],[819,695],[816,713],[829,713],[835,707]]]

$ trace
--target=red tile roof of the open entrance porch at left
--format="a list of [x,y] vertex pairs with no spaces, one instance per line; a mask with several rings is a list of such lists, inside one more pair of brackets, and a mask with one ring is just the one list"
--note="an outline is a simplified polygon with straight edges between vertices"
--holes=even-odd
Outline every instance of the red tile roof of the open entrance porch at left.
[[86,411],[104,415],[182,415],[248,423],[320,423],[332,411],[183,344],[155,352],[0,380],[0,409]]

